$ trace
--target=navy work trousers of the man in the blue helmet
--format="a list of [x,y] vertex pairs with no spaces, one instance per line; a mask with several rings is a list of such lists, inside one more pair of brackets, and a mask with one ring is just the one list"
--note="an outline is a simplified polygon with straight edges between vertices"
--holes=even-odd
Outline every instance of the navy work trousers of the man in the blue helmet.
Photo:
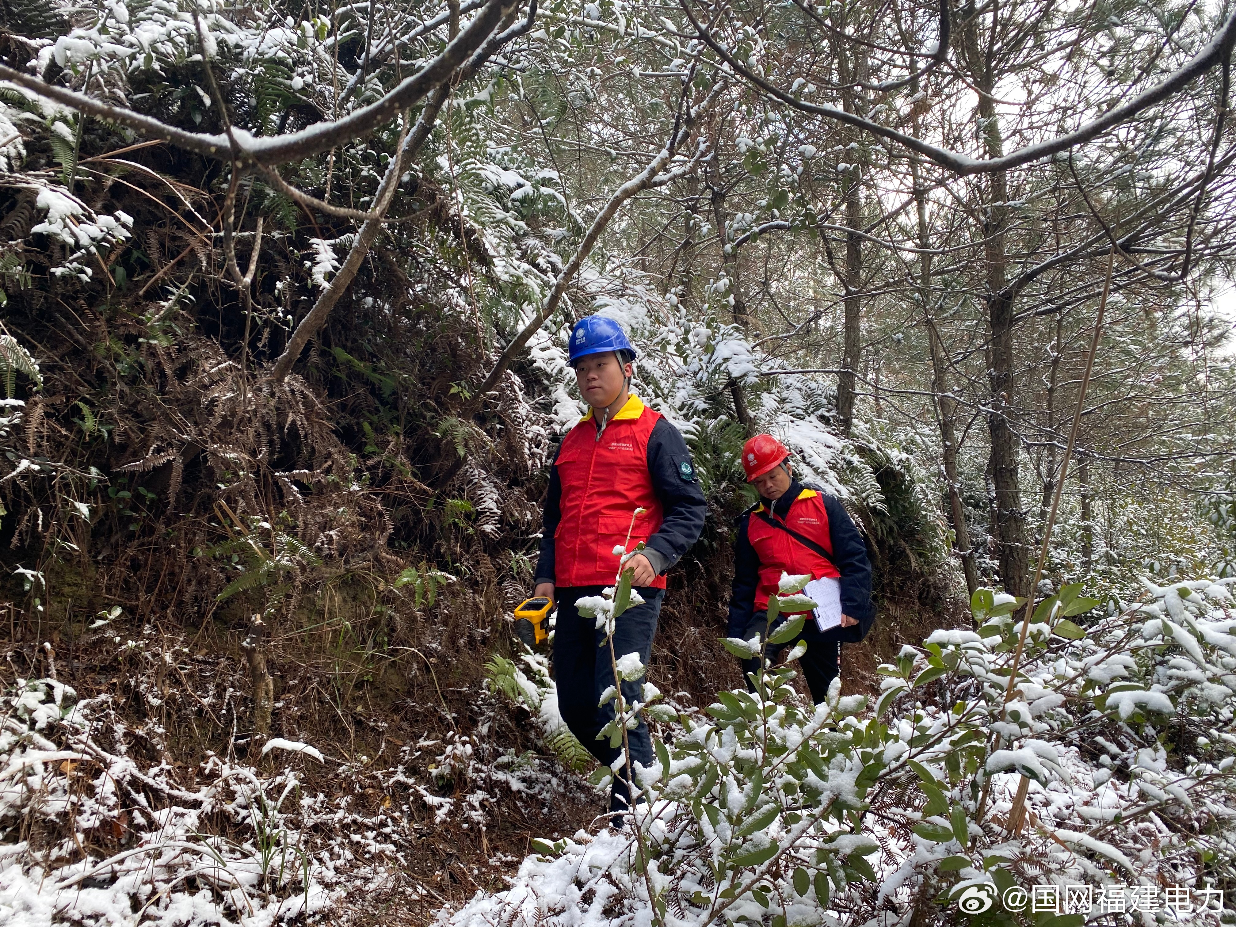
[[[597,705],[601,693],[614,684],[609,646],[606,644],[604,632],[596,628],[596,618],[585,618],[575,608],[576,599],[599,596],[601,590],[601,586],[555,590],[557,622],[554,625],[554,682],[557,686],[557,709],[562,721],[580,743],[608,766],[622,750],[620,744],[611,747],[608,737],[597,739],[601,729],[613,721],[617,703],[617,700],[611,700],[604,706]],[[644,604],[628,608],[618,616],[614,625],[614,656],[620,659],[627,654],[639,654],[639,661],[648,666],[665,590],[640,588],[638,592]],[[628,705],[644,701],[643,681],[624,681],[622,693]],[[633,764],[653,765],[653,739],[643,717],[639,727],[627,732],[627,743]],[[628,797],[625,775],[625,768],[619,769],[613,780],[614,798],[620,797],[623,803]],[[611,810],[618,810],[613,802]]]

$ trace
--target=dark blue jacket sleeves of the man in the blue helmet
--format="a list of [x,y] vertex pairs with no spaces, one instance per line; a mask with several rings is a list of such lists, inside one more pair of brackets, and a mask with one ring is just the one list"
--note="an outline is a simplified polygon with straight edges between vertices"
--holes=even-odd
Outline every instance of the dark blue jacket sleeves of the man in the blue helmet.
[[[599,423],[597,424],[599,428]],[[557,455],[549,471],[549,489],[545,492],[545,527],[541,533],[540,557],[536,560],[534,583],[554,582],[554,533],[562,517],[562,482],[557,476]],[[684,464],[686,466],[684,467]],[[653,477],[653,491],[661,503],[662,522],[656,534],[648,539],[644,555],[656,570],[664,574],[674,566],[700,540],[703,518],[708,512],[691,450],[681,433],[661,418],[648,438],[648,472]]]

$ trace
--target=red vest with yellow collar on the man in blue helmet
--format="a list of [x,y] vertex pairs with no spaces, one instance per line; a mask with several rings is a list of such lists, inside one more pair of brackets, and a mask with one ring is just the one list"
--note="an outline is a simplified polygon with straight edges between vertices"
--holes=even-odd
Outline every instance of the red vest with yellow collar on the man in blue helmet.
[[[554,533],[557,586],[613,586],[619,562],[614,546],[625,544],[632,551],[661,527],[661,503],[648,472],[648,439],[660,418],[632,396],[599,435],[590,410],[562,439],[556,465],[562,517]],[[632,529],[637,508],[645,510]],[[653,586],[664,590],[665,577]]]

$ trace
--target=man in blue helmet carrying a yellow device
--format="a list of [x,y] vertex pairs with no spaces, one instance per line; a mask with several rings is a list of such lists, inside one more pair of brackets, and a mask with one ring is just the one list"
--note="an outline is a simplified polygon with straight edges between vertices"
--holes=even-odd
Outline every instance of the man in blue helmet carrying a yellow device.
[[[686,441],[674,425],[630,393],[635,349],[613,319],[590,315],[571,331],[570,363],[588,414],[566,434],[550,468],[545,529],[534,596],[557,603],[554,679],[557,705],[571,732],[601,763],[613,764],[620,748],[597,739],[614,716],[613,702],[598,707],[613,685],[608,648],[592,618],[575,607],[583,596],[613,586],[617,545],[633,550],[627,566],[644,604],[624,612],[614,628],[614,653],[638,653],[646,666],[665,596],[665,571],[700,538],[707,510]],[[634,515],[637,509],[640,514]],[[632,518],[634,515],[634,527]],[[627,533],[630,530],[628,541]],[[623,682],[628,703],[640,701],[640,682]],[[628,732],[630,759],[653,763],[648,724]],[[619,764],[611,812],[629,806],[625,768]]]

